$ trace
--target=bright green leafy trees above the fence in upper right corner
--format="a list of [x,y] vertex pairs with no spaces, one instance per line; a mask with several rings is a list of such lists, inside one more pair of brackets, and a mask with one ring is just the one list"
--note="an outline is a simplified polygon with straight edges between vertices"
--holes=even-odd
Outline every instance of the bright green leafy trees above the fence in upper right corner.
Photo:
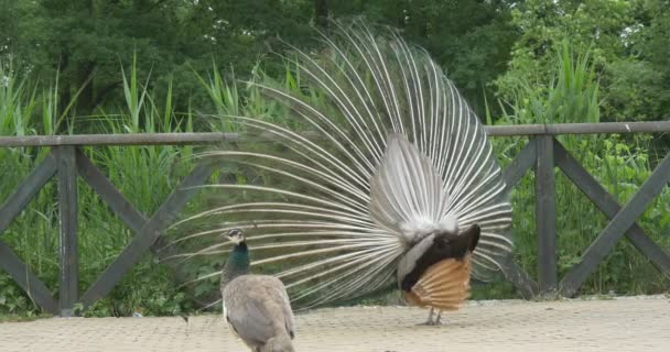
[[507,72],[495,81],[498,97],[514,100],[517,81],[544,82],[552,48],[569,41],[590,52],[601,82],[606,121],[660,120],[667,116],[667,0],[527,0],[511,11],[520,32]]

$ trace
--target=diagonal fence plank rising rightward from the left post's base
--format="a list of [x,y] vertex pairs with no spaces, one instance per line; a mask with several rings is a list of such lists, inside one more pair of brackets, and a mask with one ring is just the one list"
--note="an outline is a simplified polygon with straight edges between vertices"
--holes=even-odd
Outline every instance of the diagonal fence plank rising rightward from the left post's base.
[[82,302],[89,306],[99,298],[105,297],[121,277],[140,260],[142,254],[161,235],[176,218],[180,210],[197,191],[197,186],[204,185],[212,175],[212,164],[198,164],[181,185],[168,197],[159,210],[147,221],[142,230],[126,246],[123,252],[107,267],[105,273],[90,286],[82,297]]

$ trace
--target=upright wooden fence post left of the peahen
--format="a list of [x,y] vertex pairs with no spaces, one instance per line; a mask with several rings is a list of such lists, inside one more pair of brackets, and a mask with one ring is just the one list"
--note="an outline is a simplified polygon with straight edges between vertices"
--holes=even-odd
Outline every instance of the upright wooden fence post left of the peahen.
[[58,169],[61,315],[72,316],[79,295],[79,255],[77,252],[77,164],[74,145],[54,147]]

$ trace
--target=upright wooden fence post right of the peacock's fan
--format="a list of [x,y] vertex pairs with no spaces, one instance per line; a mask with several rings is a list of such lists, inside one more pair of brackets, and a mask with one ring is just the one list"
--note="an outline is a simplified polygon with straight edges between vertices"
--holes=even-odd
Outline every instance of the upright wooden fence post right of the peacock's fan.
[[553,138],[536,139],[536,224],[538,231],[538,273],[540,292],[554,292],[556,273],[556,205]]

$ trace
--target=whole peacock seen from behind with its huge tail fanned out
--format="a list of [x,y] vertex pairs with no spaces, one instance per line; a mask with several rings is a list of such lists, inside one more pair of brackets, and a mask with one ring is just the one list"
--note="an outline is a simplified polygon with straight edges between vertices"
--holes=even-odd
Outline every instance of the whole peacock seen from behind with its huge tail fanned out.
[[316,30],[320,51],[287,44],[299,84],[248,82],[280,119],[229,117],[275,147],[203,154],[263,182],[209,185],[239,198],[184,219],[212,228],[173,243],[248,230],[259,253],[251,266],[281,279],[294,307],[396,287],[430,308],[426,323],[439,322],[468,298],[471,276],[491,278],[511,251],[500,167],[478,118],[423,48],[363,20],[332,23],[327,34]]

